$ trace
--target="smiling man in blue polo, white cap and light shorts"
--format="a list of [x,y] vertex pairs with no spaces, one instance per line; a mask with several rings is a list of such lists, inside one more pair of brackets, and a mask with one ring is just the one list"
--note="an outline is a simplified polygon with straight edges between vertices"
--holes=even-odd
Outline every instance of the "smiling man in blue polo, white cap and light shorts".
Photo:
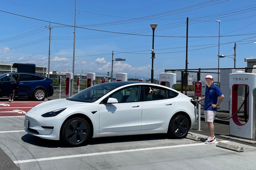
[[[210,136],[206,139],[205,143],[210,144],[216,142],[213,120],[217,112],[217,107],[223,101],[224,95],[221,89],[213,83],[213,77],[211,75],[205,77],[205,83],[207,85],[205,88],[205,96],[197,101],[200,102],[204,100],[204,118],[208,123],[210,131]],[[218,97],[219,101],[217,101]]]

